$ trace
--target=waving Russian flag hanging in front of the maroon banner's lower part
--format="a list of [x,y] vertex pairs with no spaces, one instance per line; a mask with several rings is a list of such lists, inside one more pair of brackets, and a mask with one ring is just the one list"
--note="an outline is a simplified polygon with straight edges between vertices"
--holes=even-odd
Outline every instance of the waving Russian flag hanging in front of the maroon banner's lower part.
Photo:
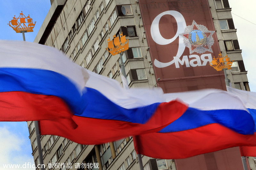
[[153,158],[182,159],[229,147],[255,145],[252,115],[236,95],[219,89],[165,94],[179,98],[188,110],[156,133],[134,136],[138,154]]

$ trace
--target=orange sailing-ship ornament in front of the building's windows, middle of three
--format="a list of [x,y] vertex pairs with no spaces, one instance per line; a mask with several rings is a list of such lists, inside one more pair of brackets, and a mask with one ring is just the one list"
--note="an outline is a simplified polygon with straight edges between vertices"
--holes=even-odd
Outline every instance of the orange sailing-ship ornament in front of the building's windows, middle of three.
[[108,52],[112,55],[116,55],[119,53],[122,53],[125,50],[128,50],[129,48],[129,39],[125,39],[125,35],[123,35],[123,32],[120,34],[119,37],[116,37],[116,35],[113,36],[113,40],[110,40],[108,37]]

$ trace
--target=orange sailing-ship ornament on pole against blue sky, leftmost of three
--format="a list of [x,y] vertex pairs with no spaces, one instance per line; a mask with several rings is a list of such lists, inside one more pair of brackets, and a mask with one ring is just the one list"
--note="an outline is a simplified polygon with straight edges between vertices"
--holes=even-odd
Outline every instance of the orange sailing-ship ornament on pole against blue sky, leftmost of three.
[[30,18],[29,15],[26,17],[21,11],[20,16],[15,18],[14,15],[8,25],[12,27],[15,32],[20,33],[21,31],[33,32],[35,24],[36,22],[33,23],[33,19]]

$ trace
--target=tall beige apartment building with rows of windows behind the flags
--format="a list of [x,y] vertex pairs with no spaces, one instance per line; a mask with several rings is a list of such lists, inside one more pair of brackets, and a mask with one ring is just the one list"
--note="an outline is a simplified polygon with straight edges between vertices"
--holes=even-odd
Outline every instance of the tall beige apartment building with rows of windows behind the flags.
[[[207,67],[207,70],[210,67],[208,66],[210,64],[209,57],[208,60],[203,58],[200,61],[201,65],[198,60],[196,60],[197,63],[196,61],[185,60],[184,56],[183,59],[178,60],[177,58],[177,62],[174,58],[171,67],[186,70],[184,75],[180,77],[170,77],[172,70],[169,74],[166,74],[166,71],[162,73],[162,70],[159,69],[161,67],[156,67],[154,50],[157,51],[157,48],[149,40],[147,22],[150,23],[151,20],[148,20],[145,10],[149,12],[156,9],[173,11],[178,8],[183,9],[183,11],[184,9],[192,10],[193,13],[195,5],[193,3],[203,3],[204,8],[209,10],[207,15],[212,18],[209,23],[214,28],[211,33],[215,40],[216,47],[214,48],[218,53],[220,52],[223,56],[227,55],[231,60],[234,60],[232,69],[227,70],[231,86],[237,89],[249,90],[247,71],[241,55],[242,50],[238,45],[228,0],[163,0],[157,2],[139,2],[136,0],[51,0],[52,6],[34,42],[57,48],[74,63],[95,73],[116,79],[122,85],[119,67],[121,64],[120,55],[111,55],[106,48],[108,47],[108,38],[112,39],[113,35],[120,37],[120,34],[123,33],[129,39],[129,49],[121,55],[129,88],[154,88],[160,86],[164,92],[203,88],[225,89],[223,73],[212,73],[211,71],[209,75],[204,74],[207,72],[204,68]],[[183,5],[185,6],[184,8],[182,7]],[[167,21],[176,18],[165,19]],[[189,25],[192,25],[192,22]],[[193,43],[202,44],[205,43],[204,37],[199,34],[201,32],[198,25],[197,30],[199,32],[195,34],[196,39]],[[175,31],[178,32],[178,28],[174,30],[173,36]],[[166,30],[163,30],[163,32],[166,32]],[[206,33],[206,35],[208,34]],[[165,38],[170,39],[171,37],[166,36]],[[214,53],[214,55],[217,54]],[[194,57],[197,59],[199,55]],[[205,66],[198,67],[199,74],[203,75],[196,74],[197,67],[194,66],[199,65]],[[167,71],[170,70],[167,69]],[[196,73],[192,75],[191,72]],[[195,82],[200,82],[203,85],[195,84]],[[189,86],[188,84],[193,85]],[[34,156],[35,164],[38,165],[36,134],[33,122],[28,122],[28,129],[33,151],[32,155]],[[133,140],[130,137],[102,145],[80,145],[62,137],[45,135],[41,137],[41,145],[44,164],[46,165],[45,169],[47,170],[139,169],[137,154],[134,150]],[[142,156],[142,161],[145,170],[194,170],[198,168],[238,170],[243,168],[239,148],[229,148],[179,160],[154,159]],[[251,169],[256,170],[254,159],[250,157],[249,162]]]

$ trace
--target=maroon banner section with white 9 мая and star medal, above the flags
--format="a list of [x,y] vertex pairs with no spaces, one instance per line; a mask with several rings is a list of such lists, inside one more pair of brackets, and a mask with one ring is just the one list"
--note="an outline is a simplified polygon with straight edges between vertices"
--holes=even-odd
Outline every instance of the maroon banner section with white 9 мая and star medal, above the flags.
[[208,0],[140,0],[150,55],[164,92],[226,89],[210,66],[220,53]]

